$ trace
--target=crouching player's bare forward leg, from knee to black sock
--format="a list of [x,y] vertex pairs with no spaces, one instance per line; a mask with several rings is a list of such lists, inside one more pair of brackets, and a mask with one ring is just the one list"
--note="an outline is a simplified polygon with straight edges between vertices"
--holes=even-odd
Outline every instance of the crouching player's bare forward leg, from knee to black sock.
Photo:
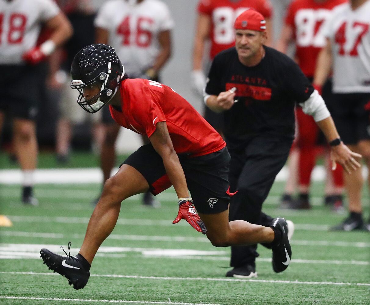
[[147,180],[134,167],[122,165],[104,184],[101,197],[91,215],[80,254],[91,264],[101,243],[112,232],[120,214],[121,202],[149,189]]

